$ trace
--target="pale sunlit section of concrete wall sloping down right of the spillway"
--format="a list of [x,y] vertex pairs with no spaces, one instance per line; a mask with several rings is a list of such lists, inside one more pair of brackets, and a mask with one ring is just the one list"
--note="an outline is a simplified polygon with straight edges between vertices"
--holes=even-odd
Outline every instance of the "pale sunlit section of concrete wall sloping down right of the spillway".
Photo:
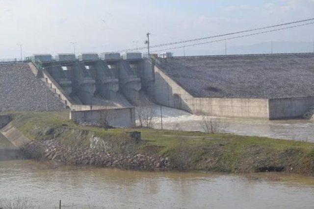
[[156,102],[193,114],[268,119],[268,100],[250,98],[197,98],[155,66],[155,84],[149,87]]

